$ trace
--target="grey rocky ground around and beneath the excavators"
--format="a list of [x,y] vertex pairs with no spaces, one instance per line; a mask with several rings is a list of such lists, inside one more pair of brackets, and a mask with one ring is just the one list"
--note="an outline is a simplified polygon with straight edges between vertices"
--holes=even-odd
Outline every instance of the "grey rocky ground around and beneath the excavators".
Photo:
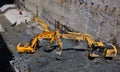
[[[0,33],[0,64],[7,60],[14,60],[14,66],[20,72],[119,72],[120,56],[113,60],[87,57],[86,42],[76,43],[72,40],[63,39],[63,52],[55,53],[55,49],[49,48],[48,41],[44,40],[42,47],[33,54],[19,54],[16,45],[19,42],[30,41],[37,33],[42,32],[36,25],[20,24],[11,26],[11,23],[3,14],[0,14],[0,24],[4,32]],[[3,44],[4,43],[4,44]],[[4,47],[2,45],[5,45]],[[6,50],[4,50],[5,48]],[[46,51],[47,49],[47,51]],[[2,58],[3,57],[3,58]],[[4,65],[5,65],[4,64]]]

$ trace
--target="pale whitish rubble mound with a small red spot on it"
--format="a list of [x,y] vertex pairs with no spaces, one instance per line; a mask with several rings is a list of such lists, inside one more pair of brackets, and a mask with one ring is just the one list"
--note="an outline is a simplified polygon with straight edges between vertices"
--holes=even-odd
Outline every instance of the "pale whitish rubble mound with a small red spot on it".
[[11,24],[16,23],[16,25],[19,25],[21,23],[26,23],[31,21],[32,14],[27,11],[12,9],[4,13],[4,16],[11,22]]

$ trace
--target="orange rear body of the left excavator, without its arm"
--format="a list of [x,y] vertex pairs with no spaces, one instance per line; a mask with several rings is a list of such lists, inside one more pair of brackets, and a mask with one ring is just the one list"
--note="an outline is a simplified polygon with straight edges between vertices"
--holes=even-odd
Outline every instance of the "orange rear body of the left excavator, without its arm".
[[17,51],[19,53],[23,53],[23,52],[34,53],[35,52],[35,50],[33,48],[31,48],[28,43],[25,43],[24,45],[21,45],[21,43],[19,43],[17,45]]

